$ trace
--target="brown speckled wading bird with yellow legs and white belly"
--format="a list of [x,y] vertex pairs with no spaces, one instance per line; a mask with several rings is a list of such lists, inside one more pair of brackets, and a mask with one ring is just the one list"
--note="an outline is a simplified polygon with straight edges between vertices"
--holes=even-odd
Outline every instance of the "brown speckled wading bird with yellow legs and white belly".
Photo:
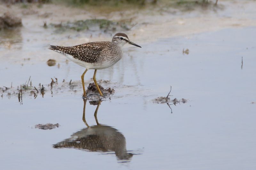
[[51,45],[49,49],[63,54],[71,61],[86,68],[81,76],[84,90],[83,97],[86,97],[84,74],[87,72],[87,70],[94,69],[93,81],[100,93],[100,96],[103,96],[96,81],[96,72],[98,69],[108,68],[116,64],[116,62],[123,57],[124,44],[132,44],[140,47],[139,45],[132,43],[126,34],[117,33],[114,35],[112,42],[99,41],[71,47]]

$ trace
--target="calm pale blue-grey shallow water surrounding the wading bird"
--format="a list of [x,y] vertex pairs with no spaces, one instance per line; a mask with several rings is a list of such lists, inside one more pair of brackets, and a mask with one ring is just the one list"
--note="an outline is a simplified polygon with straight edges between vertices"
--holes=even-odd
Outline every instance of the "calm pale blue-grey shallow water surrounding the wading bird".
[[[124,135],[133,155],[128,160],[119,160],[113,151],[53,148],[87,128],[81,85],[76,92],[65,86],[53,94],[48,90],[44,98],[24,94],[22,104],[17,95],[8,97],[5,92],[0,102],[1,169],[255,169],[255,30],[159,39],[138,43],[141,49],[127,45],[122,60],[97,72],[98,80],[110,80],[105,88],[115,89],[111,100],[101,102],[98,122]],[[189,49],[188,55],[182,54],[183,48]],[[23,66],[1,62],[0,86],[23,84],[30,75],[33,86],[46,86],[51,77],[79,84],[84,68],[66,63],[64,56],[58,61],[60,68],[46,61],[33,63],[32,58]],[[92,74],[86,73],[87,84]],[[167,104],[151,101],[167,96],[170,85],[171,99],[188,99],[170,105],[172,113]],[[89,126],[96,125],[96,107],[87,101]],[[39,123],[60,127],[33,128]]]

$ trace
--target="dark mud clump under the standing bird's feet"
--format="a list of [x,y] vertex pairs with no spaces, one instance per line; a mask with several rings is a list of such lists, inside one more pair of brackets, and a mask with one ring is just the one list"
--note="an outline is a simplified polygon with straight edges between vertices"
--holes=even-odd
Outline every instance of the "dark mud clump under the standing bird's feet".
[[[99,88],[100,88],[103,96],[108,96],[108,95],[111,95],[115,92],[115,90],[111,89],[111,88],[104,89],[100,84],[99,84]],[[86,90],[86,94],[87,94],[87,97],[89,97],[89,96],[100,96],[95,83],[90,83],[89,84],[89,86]]]

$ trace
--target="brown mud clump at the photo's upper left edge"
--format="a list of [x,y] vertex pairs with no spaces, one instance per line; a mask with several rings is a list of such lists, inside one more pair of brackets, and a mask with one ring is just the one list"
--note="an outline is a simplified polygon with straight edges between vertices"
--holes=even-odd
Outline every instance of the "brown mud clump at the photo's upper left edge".
[[14,28],[14,27],[21,27],[22,22],[21,18],[15,17],[9,12],[4,13],[2,17],[0,17],[0,29],[3,28]]

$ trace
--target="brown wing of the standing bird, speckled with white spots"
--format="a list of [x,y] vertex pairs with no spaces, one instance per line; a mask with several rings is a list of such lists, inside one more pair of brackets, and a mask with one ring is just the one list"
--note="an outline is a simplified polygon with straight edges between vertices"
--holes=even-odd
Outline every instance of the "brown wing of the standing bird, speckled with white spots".
[[71,47],[51,45],[49,49],[60,52],[64,55],[69,54],[80,61],[95,63],[97,62],[102,50],[107,48],[109,44],[110,42],[92,42]]

